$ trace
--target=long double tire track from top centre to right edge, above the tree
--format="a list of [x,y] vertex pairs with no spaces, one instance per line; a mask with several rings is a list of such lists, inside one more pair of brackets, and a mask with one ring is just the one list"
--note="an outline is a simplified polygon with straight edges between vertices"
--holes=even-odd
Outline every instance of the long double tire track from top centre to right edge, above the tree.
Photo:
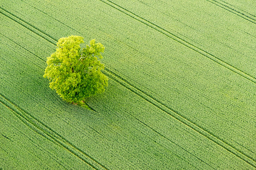
[[238,75],[240,75],[240,76],[242,76],[242,77],[244,77],[244,78],[248,79],[249,81],[252,81],[253,83],[256,84],[256,78],[255,77],[252,77],[251,75],[245,73],[244,71],[228,64],[227,62],[225,62],[224,60],[221,60],[220,58],[214,56],[213,54],[211,54],[211,53],[209,53],[209,52],[207,52],[207,51],[205,51],[205,50],[203,50],[199,47],[196,47],[195,45],[193,45],[193,44],[189,43],[188,41],[178,37],[177,35],[173,34],[172,32],[169,32],[169,31],[165,30],[164,28],[152,23],[151,21],[149,21],[145,18],[142,18],[142,17],[136,15],[134,12],[123,8],[122,6],[112,2],[110,0],[99,0],[99,1],[101,1],[105,4],[108,4],[109,6],[115,8],[116,10],[121,11],[122,13],[132,17],[133,19],[135,19],[137,21],[140,21],[141,23],[151,27],[154,30],[156,30],[158,32],[161,32],[162,34],[166,35],[167,37],[169,37],[169,38],[179,42],[180,44],[196,51],[197,53],[200,53],[200,54],[204,55],[205,57],[209,58],[210,60],[213,60],[214,62],[220,64],[221,66],[226,67],[227,69],[233,71],[234,73],[236,73],[236,74],[238,74]]

